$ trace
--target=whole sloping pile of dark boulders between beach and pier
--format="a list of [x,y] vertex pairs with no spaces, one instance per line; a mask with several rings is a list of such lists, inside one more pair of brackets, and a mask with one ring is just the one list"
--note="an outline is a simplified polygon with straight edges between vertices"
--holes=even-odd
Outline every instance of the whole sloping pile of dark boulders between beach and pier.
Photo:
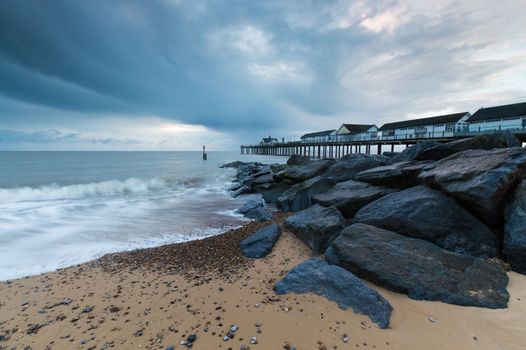
[[[284,228],[329,264],[411,298],[504,308],[506,269],[526,273],[520,145],[497,132],[398,154],[226,166],[238,169],[235,191],[260,193],[291,212]],[[293,276],[303,273],[308,280],[313,272],[298,268]],[[335,293],[314,289],[303,288]]]

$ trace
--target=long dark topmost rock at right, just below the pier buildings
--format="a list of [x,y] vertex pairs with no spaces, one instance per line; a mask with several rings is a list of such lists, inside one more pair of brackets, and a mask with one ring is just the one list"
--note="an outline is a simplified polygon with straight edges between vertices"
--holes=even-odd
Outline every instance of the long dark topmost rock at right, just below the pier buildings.
[[483,134],[462,140],[455,140],[431,147],[420,153],[417,160],[439,160],[466,150],[491,150],[495,148],[521,147],[519,139],[509,131]]

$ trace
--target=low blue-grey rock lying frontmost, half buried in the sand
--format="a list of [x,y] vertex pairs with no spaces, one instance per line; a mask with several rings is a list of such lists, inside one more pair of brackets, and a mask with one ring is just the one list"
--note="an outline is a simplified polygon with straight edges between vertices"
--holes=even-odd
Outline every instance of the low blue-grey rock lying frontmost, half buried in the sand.
[[292,269],[274,290],[278,294],[314,293],[334,301],[341,309],[367,315],[380,328],[389,327],[392,307],[374,289],[352,273],[331,266],[319,258],[304,261]]

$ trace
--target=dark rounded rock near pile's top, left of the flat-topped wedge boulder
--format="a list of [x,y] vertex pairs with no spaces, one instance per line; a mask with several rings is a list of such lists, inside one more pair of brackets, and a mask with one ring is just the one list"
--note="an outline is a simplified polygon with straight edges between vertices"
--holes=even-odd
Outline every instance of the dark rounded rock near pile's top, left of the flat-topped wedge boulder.
[[366,154],[349,154],[342,157],[332,165],[324,174],[333,181],[341,182],[354,178],[354,175],[367,169],[376,168],[385,164],[383,157]]

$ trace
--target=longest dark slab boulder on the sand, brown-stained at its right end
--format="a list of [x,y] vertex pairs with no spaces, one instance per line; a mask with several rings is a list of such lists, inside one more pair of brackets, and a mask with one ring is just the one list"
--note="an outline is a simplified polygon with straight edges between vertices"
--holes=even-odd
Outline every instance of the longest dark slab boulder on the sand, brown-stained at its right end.
[[508,276],[500,265],[421,239],[354,224],[341,232],[325,256],[331,264],[412,299],[507,307]]

